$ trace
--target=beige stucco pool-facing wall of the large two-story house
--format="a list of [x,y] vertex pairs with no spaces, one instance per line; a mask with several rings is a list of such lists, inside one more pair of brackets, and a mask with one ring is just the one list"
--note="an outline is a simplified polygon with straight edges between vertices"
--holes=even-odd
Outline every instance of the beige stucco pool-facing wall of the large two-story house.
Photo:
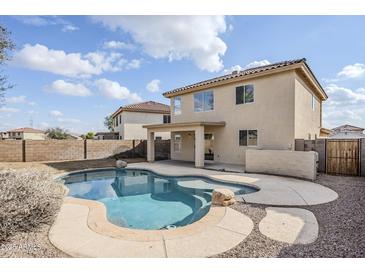
[[[245,84],[254,85],[255,102],[236,105],[236,86]],[[194,112],[193,93],[185,94],[181,96],[182,113],[172,113],[171,121],[225,121],[225,127],[205,130],[205,133],[214,134],[214,160],[244,164],[247,147],[239,146],[239,130],[258,130],[258,146],[250,149],[294,148],[294,88],[294,71],[216,87],[211,89],[214,92],[214,110],[209,112]],[[193,145],[183,136],[183,150],[186,147]],[[174,153],[171,158],[178,159]]]

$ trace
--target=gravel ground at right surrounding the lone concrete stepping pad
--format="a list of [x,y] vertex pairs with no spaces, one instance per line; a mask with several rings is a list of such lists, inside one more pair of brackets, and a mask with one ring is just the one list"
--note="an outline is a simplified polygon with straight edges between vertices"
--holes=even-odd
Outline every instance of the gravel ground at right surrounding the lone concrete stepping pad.
[[317,218],[319,235],[314,243],[289,245],[267,238],[258,229],[265,206],[237,203],[232,208],[248,215],[255,228],[238,246],[217,257],[365,257],[365,178],[320,175],[317,183],[339,197],[327,204],[301,207]]

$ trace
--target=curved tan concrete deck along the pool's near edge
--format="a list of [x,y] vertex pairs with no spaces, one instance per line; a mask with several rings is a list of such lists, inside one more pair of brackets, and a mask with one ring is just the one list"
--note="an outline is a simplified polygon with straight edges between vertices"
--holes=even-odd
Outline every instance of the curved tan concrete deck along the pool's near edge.
[[209,257],[233,248],[253,229],[250,218],[224,207],[173,230],[128,229],[109,223],[97,202],[79,200],[66,198],[49,232],[52,244],[73,257]]

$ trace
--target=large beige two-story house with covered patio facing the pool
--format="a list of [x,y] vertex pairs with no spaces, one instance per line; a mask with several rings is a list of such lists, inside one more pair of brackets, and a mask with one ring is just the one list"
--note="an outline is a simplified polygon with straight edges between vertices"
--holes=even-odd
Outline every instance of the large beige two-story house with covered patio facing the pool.
[[[171,133],[171,159],[245,164],[247,149],[293,150],[315,139],[327,95],[305,59],[234,71],[163,94],[171,124],[146,125],[147,156],[155,134]],[[207,142],[209,140],[209,142]]]

